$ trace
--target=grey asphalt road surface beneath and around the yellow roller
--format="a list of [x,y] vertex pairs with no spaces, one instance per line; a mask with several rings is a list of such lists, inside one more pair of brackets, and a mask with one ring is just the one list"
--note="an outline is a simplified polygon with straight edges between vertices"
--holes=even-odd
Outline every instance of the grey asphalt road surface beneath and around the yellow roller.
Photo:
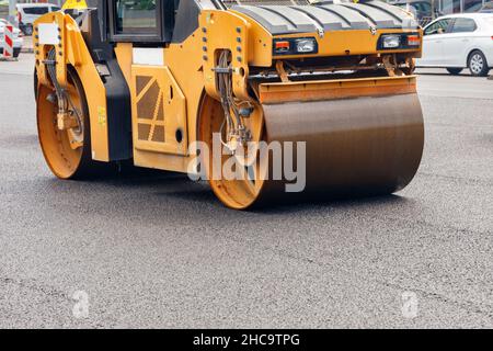
[[31,63],[0,63],[0,327],[493,327],[493,81],[421,71],[400,193],[236,212],[186,176],[56,180]]

